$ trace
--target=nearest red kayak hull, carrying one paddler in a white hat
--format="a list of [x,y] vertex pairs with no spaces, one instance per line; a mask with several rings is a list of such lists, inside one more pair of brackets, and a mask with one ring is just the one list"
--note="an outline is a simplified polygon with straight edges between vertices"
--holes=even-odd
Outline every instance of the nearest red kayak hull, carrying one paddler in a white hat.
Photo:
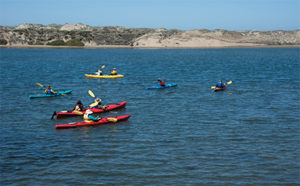
[[107,117],[102,118],[99,121],[96,122],[78,122],[78,123],[70,123],[70,124],[61,124],[61,125],[55,125],[56,129],[65,129],[65,128],[74,128],[74,127],[84,127],[84,126],[94,126],[94,125],[101,125],[105,123],[115,123],[119,121],[124,121],[130,118],[131,114],[124,115],[124,116],[117,116],[117,117]]

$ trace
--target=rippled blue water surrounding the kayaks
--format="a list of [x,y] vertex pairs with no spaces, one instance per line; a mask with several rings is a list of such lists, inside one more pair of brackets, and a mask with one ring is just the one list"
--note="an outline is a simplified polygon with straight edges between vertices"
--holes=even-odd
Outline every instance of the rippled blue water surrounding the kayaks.
[[[1,185],[300,183],[300,49],[0,49]],[[86,79],[103,64],[122,79]],[[105,68],[104,72],[108,72]],[[176,88],[146,90],[157,78]],[[224,92],[210,87],[232,80]],[[29,100],[36,83],[72,89]],[[55,130],[78,99],[122,123]]]

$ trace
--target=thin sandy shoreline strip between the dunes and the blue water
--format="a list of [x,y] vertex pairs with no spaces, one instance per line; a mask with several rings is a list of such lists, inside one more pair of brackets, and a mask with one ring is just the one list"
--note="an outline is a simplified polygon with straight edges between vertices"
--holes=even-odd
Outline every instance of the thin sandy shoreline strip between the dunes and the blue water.
[[214,49],[214,48],[300,48],[300,45],[252,45],[252,46],[211,46],[211,47],[132,47],[126,45],[100,46],[49,46],[49,45],[0,45],[0,48],[49,48],[49,49]]

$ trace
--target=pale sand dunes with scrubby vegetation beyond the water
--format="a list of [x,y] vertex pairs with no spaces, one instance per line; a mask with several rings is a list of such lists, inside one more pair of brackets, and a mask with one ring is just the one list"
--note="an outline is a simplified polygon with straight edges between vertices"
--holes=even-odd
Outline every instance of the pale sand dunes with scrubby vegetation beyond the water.
[[226,47],[300,45],[300,30],[227,31],[167,30],[151,28],[91,27],[81,23],[65,25],[22,24],[0,26],[0,45],[5,46],[126,46],[126,47]]

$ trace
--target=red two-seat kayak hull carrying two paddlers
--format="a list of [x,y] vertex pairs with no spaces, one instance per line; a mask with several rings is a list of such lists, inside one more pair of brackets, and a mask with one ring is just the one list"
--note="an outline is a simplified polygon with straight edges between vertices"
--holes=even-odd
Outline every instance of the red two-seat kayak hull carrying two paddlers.
[[[125,107],[126,103],[127,103],[127,101],[122,101],[119,104],[108,105],[105,110],[96,109],[96,108],[92,108],[90,110],[93,111],[93,113],[107,112],[107,111],[111,111],[114,109],[123,108],[123,107]],[[56,118],[59,119],[59,118],[70,117],[70,116],[82,116],[84,113],[85,113],[85,111],[58,112],[58,113],[56,113]]]

